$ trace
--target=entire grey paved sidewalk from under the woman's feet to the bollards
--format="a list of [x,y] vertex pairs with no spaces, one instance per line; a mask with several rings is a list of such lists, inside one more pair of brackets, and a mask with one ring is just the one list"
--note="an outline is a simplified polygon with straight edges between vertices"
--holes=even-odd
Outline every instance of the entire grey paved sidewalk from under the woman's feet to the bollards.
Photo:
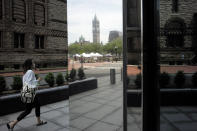
[[[122,131],[122,82],[110,85],[109,76],[98,78],[98,89],[70,97],[41,107],[41,118],[48,124],[36,126],[34,110],[18,123],[14,131]],[[11,107],[12,108],[12,107]],[[19,113],[0,117],[0,131],[6,131],[6,123],[16,119]]]

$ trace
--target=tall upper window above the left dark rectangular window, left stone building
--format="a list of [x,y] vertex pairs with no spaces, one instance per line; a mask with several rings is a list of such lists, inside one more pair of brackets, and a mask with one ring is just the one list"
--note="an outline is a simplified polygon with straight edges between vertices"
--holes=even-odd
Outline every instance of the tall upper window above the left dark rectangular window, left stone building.
[[26,4],[24,0],[12,1],[12,18],[16,22],[26,22]]

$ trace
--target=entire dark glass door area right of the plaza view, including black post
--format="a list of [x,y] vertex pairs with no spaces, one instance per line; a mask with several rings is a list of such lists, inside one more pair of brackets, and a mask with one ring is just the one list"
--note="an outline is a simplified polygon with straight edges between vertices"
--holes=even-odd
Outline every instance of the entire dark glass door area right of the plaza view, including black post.
[[123,3],[124,130],[196,130],[197,1]]

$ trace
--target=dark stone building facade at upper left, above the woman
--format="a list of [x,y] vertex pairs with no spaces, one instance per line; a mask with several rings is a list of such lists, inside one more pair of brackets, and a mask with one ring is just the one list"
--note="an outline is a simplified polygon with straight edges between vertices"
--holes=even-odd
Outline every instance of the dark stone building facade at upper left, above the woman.
[[66,0],[0,0],[0,70],[67,66]]

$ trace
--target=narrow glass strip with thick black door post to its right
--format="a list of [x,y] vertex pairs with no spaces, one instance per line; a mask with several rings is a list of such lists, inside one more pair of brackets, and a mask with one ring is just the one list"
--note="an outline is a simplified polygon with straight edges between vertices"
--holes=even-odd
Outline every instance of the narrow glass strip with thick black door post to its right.
[[124,0],[124,131],[159,130],[157,0]]

